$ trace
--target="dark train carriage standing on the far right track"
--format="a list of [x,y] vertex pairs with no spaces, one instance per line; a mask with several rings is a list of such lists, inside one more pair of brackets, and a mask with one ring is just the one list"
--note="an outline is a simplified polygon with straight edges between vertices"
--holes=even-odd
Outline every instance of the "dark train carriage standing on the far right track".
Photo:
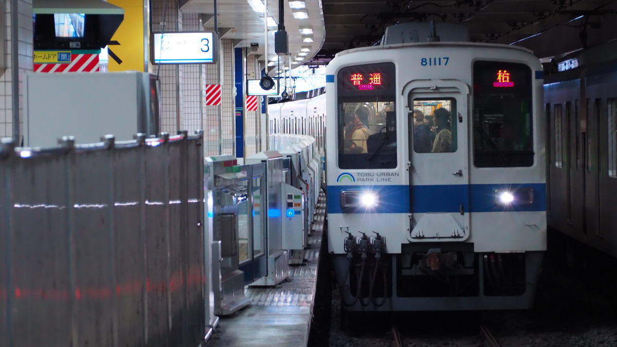
[[544,79],[547,223],[617,257],[617,44],[558,61]]

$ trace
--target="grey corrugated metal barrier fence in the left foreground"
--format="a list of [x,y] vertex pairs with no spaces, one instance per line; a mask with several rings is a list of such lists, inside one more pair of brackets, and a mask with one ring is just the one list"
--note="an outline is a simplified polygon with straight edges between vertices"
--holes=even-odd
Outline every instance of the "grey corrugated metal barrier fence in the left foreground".
[[0,346],[197,346],[202,134],[0,147]]

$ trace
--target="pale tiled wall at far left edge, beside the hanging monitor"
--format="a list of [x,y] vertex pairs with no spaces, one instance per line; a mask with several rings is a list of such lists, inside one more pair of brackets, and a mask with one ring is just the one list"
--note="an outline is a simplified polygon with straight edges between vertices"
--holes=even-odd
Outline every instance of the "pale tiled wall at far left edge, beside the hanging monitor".
[[[19,0],[19,25],[17,28],[17,40],[19,55],[19,113],[20,113],[20,135],[23,136],[23,88],[22,81],[24,75],[28,71],[32,71],[32,1]],[[12,77],[11,77],[11,49],[12,37],[14,32],[10,27],[10,1],[2,1],[4,6],[4,36],[5,36],[5,54],[4,62],[6,70],[0,76],[0,137],[12,137],[13,134],[13,115],[12,115]]]

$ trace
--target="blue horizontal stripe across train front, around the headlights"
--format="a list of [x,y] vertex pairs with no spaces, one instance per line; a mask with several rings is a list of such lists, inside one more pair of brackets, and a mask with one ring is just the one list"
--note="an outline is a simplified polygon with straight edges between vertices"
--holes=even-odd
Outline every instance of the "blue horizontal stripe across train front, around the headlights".
[[[532,188],[534,203],[523,206],[504,207],[495,201],[495,190]],[[426,213],[426,212],[460,212],[463,204],[465,212],[500,212],[500,211],[546,211],[546,185],[544,183],[520,183],[513,185],[421,185],[412,188],[412,205],[410,207],[410,190],[406,185],[382,186],[328,186],[328,213],[342,213],[341,191],[370,190],[379,196],[379,204],[370,211],[359,209],[346,213]],[[469,196],[469,199],[465,199]]]

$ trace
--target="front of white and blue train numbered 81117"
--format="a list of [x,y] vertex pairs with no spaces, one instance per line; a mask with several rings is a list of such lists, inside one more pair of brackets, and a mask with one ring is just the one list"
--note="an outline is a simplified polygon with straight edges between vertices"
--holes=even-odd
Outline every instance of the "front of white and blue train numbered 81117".
[[437,24],[441,40],[426,23],[397,25],[328,65],[328,248],[347,312],[534,298],[547,230],[542,65]]

